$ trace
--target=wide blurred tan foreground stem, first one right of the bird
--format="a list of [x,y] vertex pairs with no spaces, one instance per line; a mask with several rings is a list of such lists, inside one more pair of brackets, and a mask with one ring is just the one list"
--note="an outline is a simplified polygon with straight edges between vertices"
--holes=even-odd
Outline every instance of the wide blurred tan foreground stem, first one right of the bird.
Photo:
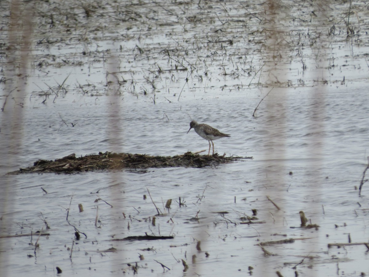
[[[272,216],[270,218],[272,225],[269,228],[272,229],[283,227],[283,203],[286,176],[286,103],[284,89],[279,89],[279,78],[283,74],[288,75],[288,68],[286,68],[283,58],[287,55],[288,47],[284,42],[284,36],[286,35],[284,30],[280,30],[279,26],[280,17],[290,12],[290,7],[283,2],[268,0],[264,3],[266,21],[262,28],[266,32],[265,49],[265,66],[261,72],[262,84],[274,87],[275,89],[265,98],[266,100],[266,124],[268,133],[265,137],[266,155],[264,157],[265,168],[265,181],[266,187],[265,194],[269,195],[277,203],[277,209],[270,208]],[[259,84],[258,84],[259,85]],[[268,88],[268,91],[270,88]],[[268,197],[268,199],[270,199]],[[264,201],[268,201],[267,197]],[[273,203],[273,202],[272,202]],[[270,205],[268,203],[267,205]],[[279,208],[279,209],[278,209]],[[272,220],[273,219],[273,220]],[[272,223],[273,222],[273,223]],[[282,253],[279,253],[282,254]],[[269,259],[265,256],[265,264],[270,266]]]

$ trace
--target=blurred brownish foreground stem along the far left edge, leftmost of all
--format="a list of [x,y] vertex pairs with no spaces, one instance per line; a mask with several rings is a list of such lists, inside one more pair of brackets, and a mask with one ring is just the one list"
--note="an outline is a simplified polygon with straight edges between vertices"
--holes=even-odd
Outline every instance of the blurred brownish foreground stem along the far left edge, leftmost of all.
[[[28,69],[30,65],[31,40],[32,40],[32,3],[20,0],[13,0],[9,3],[9,17],[3,17],[8,20],[7,30],[2,30],[3,39],[7,44],[5,56],[4,75],[6,76],[4,95],[7,95],[7,102],[4,104],[3,112],[5,119],[1,124],[1,133],[8,137],[3,147],[6,153],[2,157],[5,163],[14,165],[19,161],[20,147],[22,143],[23,128],[23,106],[26,97],[26,87],[28,78]],[[5,101],[6,101],[5,100]],[[11,100],[11,101],[10,101]],[[4,178],[2,184],[2,199],[0,201],[1,231],[3,228],[11,225],[13,218],[8,217],[11,212],[11,201],[8,201],[8,188],[13,185],[8,178]],[[7,245],[8,240],[0,240],[0,268],[1,276],[7,276],[7,264],[9,255],[7,252],[10,246]]]

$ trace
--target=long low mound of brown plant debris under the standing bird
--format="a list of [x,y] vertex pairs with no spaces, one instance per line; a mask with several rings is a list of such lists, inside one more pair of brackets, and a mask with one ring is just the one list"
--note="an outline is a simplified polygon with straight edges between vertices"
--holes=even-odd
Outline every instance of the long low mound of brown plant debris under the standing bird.
[[252,159],[252,157],[224,157],[217,153],[214,155],[199,155],[186,152],[183,155],[173,157],[149,156],[146,154],[99,152],[97,155],[76,157],[70,154],[66,157],[50,160],[37,160],[33,166],[20,168],[8,174],[32,173],[32,172],[86,172],[93,170],[123,170],[146,169],[161,167],[207,167],[223,163],[230,163],[239,159]]

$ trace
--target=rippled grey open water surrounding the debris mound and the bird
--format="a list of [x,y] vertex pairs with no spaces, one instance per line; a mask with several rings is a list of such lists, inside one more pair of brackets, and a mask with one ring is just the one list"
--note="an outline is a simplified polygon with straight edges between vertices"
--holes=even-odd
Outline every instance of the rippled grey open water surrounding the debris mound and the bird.
[[[271,274],[275,270],[289,274],[292,266],[284,266],[284,263],[298,264],[308,255],[313,258],[306,258],[308,261],[298,267],[300,274],[305,276],[320,275],[321,272],[333,274],[337,263],[340,272],[345,271],[345,274],[354,274],[353,268],[365,271],[365,266],[355,262],[357,249],[365,251],[365,246],[352,246],[340,251],[328,249],[327,244],[347,242],[348,233],[353,242],[365,242],[368,235],[363,209],[365,185],[361,198],[354,190],[366,166],[368,127],[363,115],[368,114],[368,108],[361,103],[366,103],[368,96],[364,89],[348,91],[336,88],[325,92],[324,109],[313,110],[314,100],[309,102],[308,95],[315,90],[318,88],[305,88],[298,94],[294,89],[275,90],[259,106],[257,118],[251,116],[255,105],[250,102],[257,105],[258,96],[197,102],[183,100],[156,105],[135,102],[131,96],[125,96],[123,103],[119,102],[121,97],[117,97],[114,104],[109,103],[106,97],[103,100],[108,103],[101,101],[99,105],[91,98],[84,98],[81,105],[77,101],[82,100],[76,101],[70,96],[56,105],[39,104],[36,109],[35,103],[27,105],[23,108],[26,120],[22,146],[18,150],[23,155],[18,162],[20,165],[8,166],[11,170],[30,165],[38,158],[53,159],[72,152],[85,155],[112,150],[115,138],[110,137],[111,117],[121,123],[117,133],[121,144],[116,146],[121,151],[175,155],[207,149],[206,140],[194,132],[186,134],[190,120],[186,113],[199,122],[231,133],[231,138],[215,141],[218,153],[253,156],[254,159],[212,168],[149,169],[145,174],[123,171],[7,175],[3,177],[8,184],[7,194],[3,195],[6,199],[2,199],[7,203],[7,211],[3,213],[7,226],[3,226],[2,232],[30,233],[31,230],[45,229],[41,213],[51,227],[49,237],[40,237],[40,248],[33,257],[27,258],[27,254],[34,255],[34,246],[28,245],[29,237],[6,239],[11,261],[22,264],[21,267],[8,264],[7,275],[17,276],[32,268],[38,274],[49,276],[56,274],[55,266],[66,274],[98,276],[102,274],[101,270],[111,269],[115,275],[124,270],[131,272],[126,263],[139,261],[136,253],[145,257],[138,263],[139,272],[155,276],[161,275],[162,269],[154,259],[171,269],[167,274],[177,275],[183,266],[176,259],[184,259],[185,253],[190,265],[189,274],[228,272],[230,264],[234,264],[233,276],[245,274],[248,266],[254,267],[256,276]],[[119,107],[114,109],[119,113],[112,116],[111,106],[114,105]],[[278,113],[268,114],[267,106],[279,109]],[[58,113],[62,113],[67,122],[77,118],[78,124],[65,126]],[[162,119],[163,113],[169,121]],[[49,114],[48,120],[44,120],[45,114]],[[314,117],[323,120],[315,121]],[[290,171],[292,175],[289,175]],[[48,194],[44,194],[41,187]],[[147,219],[156,213],[149,197],[143,200],[143,195],[148,195],[147,189],[162,212],[165,209],[161,202],[173,199],[170,213],[157,217],[156,226],[151,226]],[[92,193],[97,191],[99,197],[113,208],[101,200],[94,203],[97,195]],[[202,195],[204,198],[198,201]],[[266,195],[282,211],[277,211]],[[176,203],[179,197],[186,201],[186,207],[179,208]],[[72,259],[69,259],[70,251],[66,248],[72,246],[74,230],[66,222],[66,209],[71,198],[69,220],[88,237],[74,246]],[[78,212],[77,204],[83,204],[83,213]],[[100,228],[94,226],[97,206]],[[257,209],[257,217],[265,223],[239,225],[239,217],[243,213],[252,215],[251,209]],[[312,223],[320,225],[319,230],[298,228],[300,210]],[[198,211],[199,222],[190,221]],[[213,213],[217,211],[230,214],[223,218]],[[128,219],[128,216],[133,219]],[[335,224],[339,227],[335,228]],[[113,237],[144,235],[145,232],[174,235],[175,239],[109,242]],[[277,256],[263,257],[260,247],[255,246],[258,239],[286,238],[272,234],[307,239],[266,247]],[[34,235],[33,243],[36,237]],[[201,240],[202,252],[195,248],[197,240]],[[110,247],[118,249],[117,252],[98,252]],[[154,249],[142,250],[151,247]],[[250,255],[250,249],[255,254]],[[204,252],[210,256],[205,257]],[[197,256],[195,265],[192,265],[193,254]],[[239,264],[240,257],[244,263]],[[366,257],[360,255],[360,259]],[[311,268],[308,267],[310,264]]]

